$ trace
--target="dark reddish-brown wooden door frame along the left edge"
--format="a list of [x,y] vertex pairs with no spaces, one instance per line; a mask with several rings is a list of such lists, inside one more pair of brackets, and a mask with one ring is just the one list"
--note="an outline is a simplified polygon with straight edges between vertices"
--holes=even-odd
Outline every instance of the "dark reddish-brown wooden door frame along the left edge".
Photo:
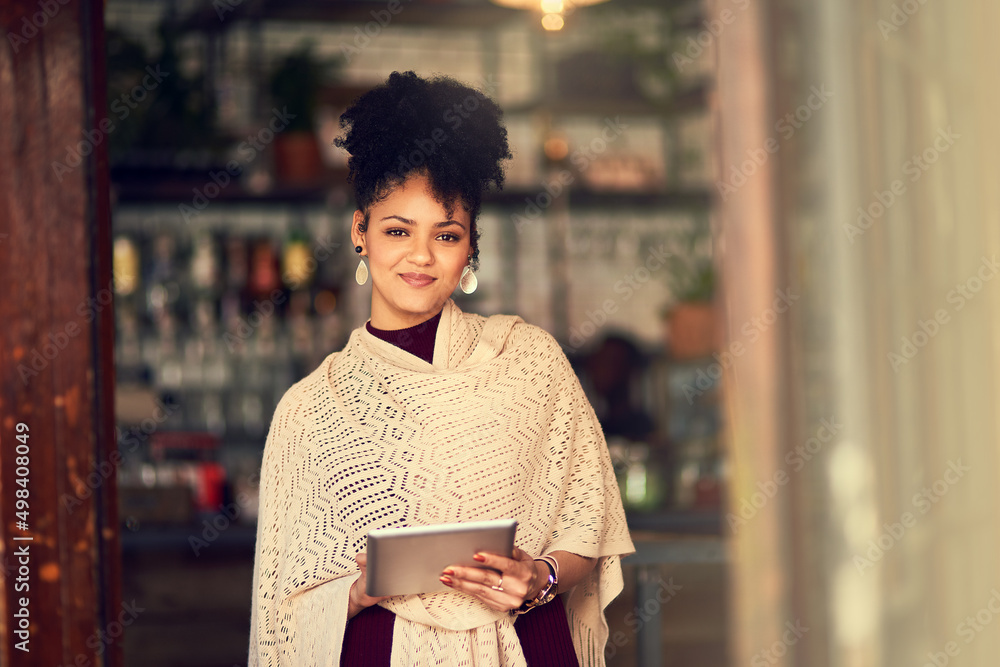
[[120,665],[135,609],[121,602],[103,11],[0,6],[2,664]]

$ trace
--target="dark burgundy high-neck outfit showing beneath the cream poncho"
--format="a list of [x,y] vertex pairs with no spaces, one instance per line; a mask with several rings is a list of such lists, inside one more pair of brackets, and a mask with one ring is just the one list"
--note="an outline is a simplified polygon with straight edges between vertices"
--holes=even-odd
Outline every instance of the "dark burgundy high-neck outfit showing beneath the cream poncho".
[[[432,363],[440,321],[439,312],[406,329],[376,329],[371,322],[367,322],[365,328],[373,336]],[[348,621],[340,653],[341,667],[388,667],[395,621],[395,614],[378,605],[362,610]],[[518,616],[514,630],[529,667],[579,667],[566,609],[559,596],[547,605]]]

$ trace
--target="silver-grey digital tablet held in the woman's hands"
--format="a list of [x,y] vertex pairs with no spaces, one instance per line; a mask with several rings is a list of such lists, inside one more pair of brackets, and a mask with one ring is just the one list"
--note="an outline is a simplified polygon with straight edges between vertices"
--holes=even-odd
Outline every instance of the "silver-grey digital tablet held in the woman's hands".
[[380,528],[368,533],[368,595],[409,595],[450,590],[438,577],[449,565],[486,566],[473,560],[479,551],[510,558],[517,521],[495,519]]

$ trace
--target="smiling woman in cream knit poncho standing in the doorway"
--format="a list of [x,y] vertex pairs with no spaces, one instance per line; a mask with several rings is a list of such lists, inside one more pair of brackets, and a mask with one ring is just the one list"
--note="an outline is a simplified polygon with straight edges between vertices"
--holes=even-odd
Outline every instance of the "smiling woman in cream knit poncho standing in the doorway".
[[[552,336],[450,298],[475,288],[482,195],[510,157],[501,117],[412,72],[341,117],[371,319],[275,411],[252,665],[604,664],[633,547],[600,426]],[[513,558],[445,568],[441,592],[365,593],[368,531],[497,518],[518,521]]]

